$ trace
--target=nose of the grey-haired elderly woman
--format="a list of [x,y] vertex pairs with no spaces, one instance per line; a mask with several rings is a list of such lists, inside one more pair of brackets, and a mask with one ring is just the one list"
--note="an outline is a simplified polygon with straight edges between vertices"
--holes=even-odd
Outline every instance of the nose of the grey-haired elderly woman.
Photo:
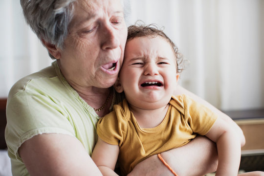
[[110,23],[102,27],[102,49],[114,49],[120,45],[118,32]]

